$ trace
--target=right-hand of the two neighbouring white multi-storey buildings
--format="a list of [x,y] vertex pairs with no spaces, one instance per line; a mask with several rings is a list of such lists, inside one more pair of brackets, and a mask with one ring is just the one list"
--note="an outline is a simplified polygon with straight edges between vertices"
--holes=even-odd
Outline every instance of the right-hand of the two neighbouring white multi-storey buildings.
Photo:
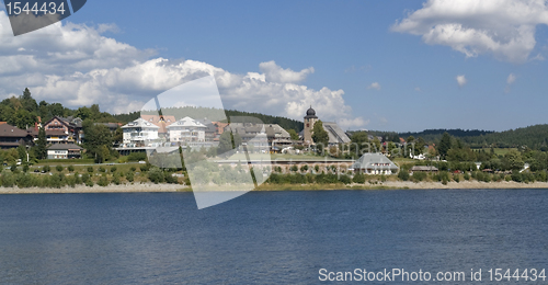
[[207,127],[192,117],[183,117],[169,125],[168,136],[171,142],[203,142]]

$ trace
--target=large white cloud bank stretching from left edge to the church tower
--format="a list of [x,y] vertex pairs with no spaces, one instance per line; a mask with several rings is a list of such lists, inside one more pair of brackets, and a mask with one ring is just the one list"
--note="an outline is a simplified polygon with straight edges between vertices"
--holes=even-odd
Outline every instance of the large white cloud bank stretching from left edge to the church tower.
[[320,90],[301,84],[313,73],[260,62],[260,72],[232,73],[207,62],[153,57],[102,33],[114,25],[56,23],[13,37],[5,12],[0,12],[0,96],[19,94],[25,87],[37,100],[70,107],[99,103],[102,110],[138,111],[152,95],[181,83],[213,75],[225,107],[302,119],[313,105],[324,121],[344,127],[367,124],[352,116],[343,90]]

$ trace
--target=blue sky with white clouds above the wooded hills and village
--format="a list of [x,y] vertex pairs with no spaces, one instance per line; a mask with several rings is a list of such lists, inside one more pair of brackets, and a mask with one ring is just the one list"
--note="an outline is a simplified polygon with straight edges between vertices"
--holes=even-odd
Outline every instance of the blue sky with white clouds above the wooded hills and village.
[[545,1],[481,2],[89,0],[18,38],[3,15],[0,98],[28,87],[73,107],[136,111],[205,70],[226,107],[300,118],[312,104],[351,129],[548,123]]

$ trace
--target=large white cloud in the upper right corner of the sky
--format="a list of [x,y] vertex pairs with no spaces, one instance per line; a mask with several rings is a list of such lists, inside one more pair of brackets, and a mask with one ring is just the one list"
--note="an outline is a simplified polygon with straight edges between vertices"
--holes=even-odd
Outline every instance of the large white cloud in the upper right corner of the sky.
[[427,0],[391,30],[420,35],[426,44],[449,46],[466,57],[492,54],[524,62],[536,45],[538,24],[548,24],[545,0]]

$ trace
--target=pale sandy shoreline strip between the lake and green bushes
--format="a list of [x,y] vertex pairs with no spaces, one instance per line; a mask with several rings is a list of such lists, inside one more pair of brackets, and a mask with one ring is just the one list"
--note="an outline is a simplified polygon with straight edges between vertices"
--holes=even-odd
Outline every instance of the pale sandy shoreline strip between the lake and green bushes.
[[[447,185],[441,182],[412,182],[412,181],[386,181],[377,184],[263,184],[254,192],[265,191],[335,191],[335,190],[470,190],[470,189],[548,189],[548,182],[517,183],[514,181],[479,182],[461,181],[448,182]],[[60,189],[20,189],[0,187],[0,194],[75,194],[75,193],[170,193],[170,192],[192,192],[192,189],[180,184],[121,184],[105,187],[94,185],[77,185],[75,187],[64,186]]]

